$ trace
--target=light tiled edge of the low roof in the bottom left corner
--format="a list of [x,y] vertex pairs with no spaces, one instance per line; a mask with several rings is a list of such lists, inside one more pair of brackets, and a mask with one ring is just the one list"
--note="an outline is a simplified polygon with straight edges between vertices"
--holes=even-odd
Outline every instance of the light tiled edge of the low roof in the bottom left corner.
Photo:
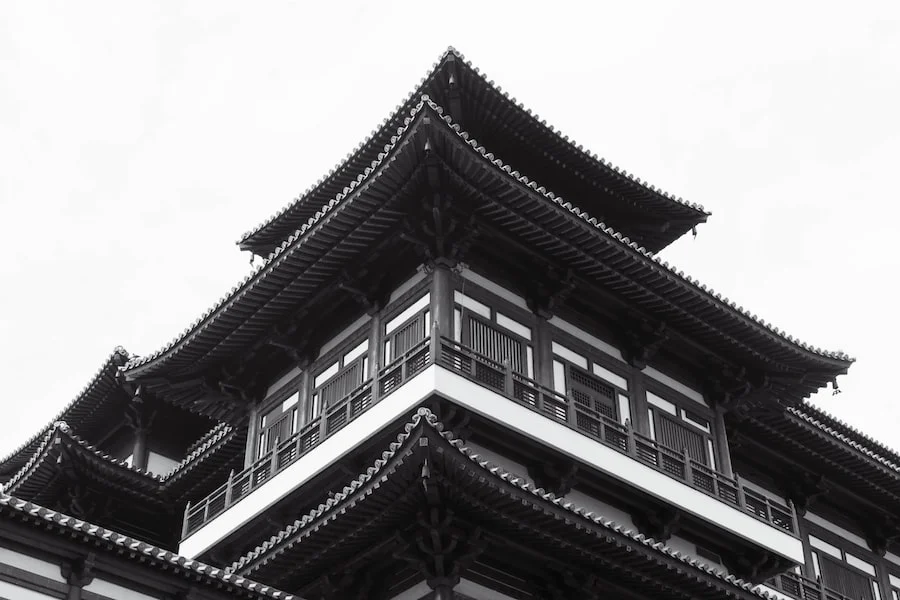
[[77,531],[98,541],[109,542],[112,545],[124,548],[126,551],[130,551],[135,555],[149,557],[152,560],[164,562],[170,566],[190,571],[195,576],[214,580],[217,584],[225,583],[233,585],[250,592],[255,592],[261,597],[272,598],[274,600],[300,600],[293,594],[288,594],[287,592],[283,592],[272,586],[263,585],[252,579],[247,579],[246,577],[232,575],[231,573],[227,573],[224,569],[213,567],[194,559],[189,559],[169,550],[154,546],[153,544],[148,544],[147,542],[100,527],[99,525],[94,525],[82,519],[76,519],[75,517],[51,510],[33,502],[21,500],[4,492],[0,492],[0,506],[9,507],[18,513],[27,515],[36,520],[55,523],[60,527]]

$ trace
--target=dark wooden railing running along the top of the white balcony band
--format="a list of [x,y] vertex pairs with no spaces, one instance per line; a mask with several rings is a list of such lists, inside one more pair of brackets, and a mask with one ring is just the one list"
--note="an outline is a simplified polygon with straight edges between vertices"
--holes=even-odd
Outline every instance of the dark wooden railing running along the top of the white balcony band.
[[[792,535],[797,534],[792,507],[747,489],[737,477],[729,477],[699,463],[686,451],[667,448],[631,426],[612,420],[538,382],[447,338],[432,336],[382,368],[345,398],[303,426],[196,505],[185,510],[182,538],[249,495],[347,423],[400,388],[431,364],[438,364],[485,388],[572,428],[592,439],[682,481],[705,494]],[[830,600],[830,599],[829,599]]]

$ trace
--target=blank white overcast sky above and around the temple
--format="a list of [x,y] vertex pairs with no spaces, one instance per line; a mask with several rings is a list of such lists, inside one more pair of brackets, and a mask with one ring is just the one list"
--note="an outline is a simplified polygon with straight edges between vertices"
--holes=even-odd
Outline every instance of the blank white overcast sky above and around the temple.
[[900,446],[900,3],[25,0],[0,5],[0,455],[225,295],[240,234],[451,44],[711,210],[664,257],[857,357],[816,401]]

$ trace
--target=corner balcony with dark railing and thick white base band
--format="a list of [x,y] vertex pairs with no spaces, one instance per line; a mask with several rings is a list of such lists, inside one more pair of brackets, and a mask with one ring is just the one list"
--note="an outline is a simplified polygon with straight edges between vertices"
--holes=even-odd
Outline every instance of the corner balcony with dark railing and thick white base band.
[[[432,367],[437,370],[431,369]],[[408,403],[419,403],[427,399],[428,395],[438,394],[460,404],[471,404],[468,407],[473,411],[482,412],[488,418],[511,428],[518,428],[532,437],[543,439],[553,434],[557,436],[556,441],[549,437],[544,441],[569,452],[573,457],[586,459],[589,464],[595,464],[598,469],[608,471],[645,493],[681,505],[688,512],[702,518],[722,523],[737,520],[738,523],[731,527],[737,535],[774,549],[776,553],[795,562],[802,561],[802,548],[797,539],[797,520],[792,507],[747,489],[739,478],[719,473],[693,460],[685,452],[657,443],[636,431],[629,423],[622,424],[609,419],[573,398],[562,396],[514,372],[508,365],[438,336],[432,336],[412,347],[398,360],[382,368],[374,379],[364,382],[295,435],[278,441],[268,454],[253,465],[230,476],[209,496],[196,504],[189,504],[184,517],[182,551],[193,553],[196,549],[199,553],[214,543],[204,541],[203,544],[185,545],[192,537],[206,537],[197,536],[197,533],[208,523],[252,496],[254,491],[276,479],[277,475],[295,465],[302,457],[314,453],[334,436],[339,436],[344,428],[361,415],[373,411],[374,407],[398,390],[404,389],[409,382],[418,379],[419,375],[424,376],[429,369],[434,377],[422,386],[417,386],[422,387],[422,390],[408,400],[397,403],[392,410],[408,411],[414,408],[414,405]],[[461,387],[472,384],[476,386],[473,389]],[[477,393],[477,389],[481,389],[482,393]],[[488,401],[489,398],[484,396],[485,391],[496,393],[508,400],[509,404]],[[496,411],[496,414],[485,413],[488,410]],[[381,420],[378,423],[387,425],[403,414],[405,413],[386,413],[383,418],[379,417]],[[555,429],[548,422],[564,429]],[[563,434],[567,430],[581,435]],[[362,437],[375,431],[377,429],[370,429]],[[356,436],[358,432],[354,432],[352,439],[358,441]],[[567,450],[567,446],[570,449]],[[606,458],[601,460],[599,456],[604,452],[602,448],[612,454],[604,455]],[[332,450],[334,451],[337,450]],[[621,458],[615,459],[615,456]],[[613,463],[618,466],[611,466]],[[664,479],[660,479],[660,476],[664,476]],[[302,484],[296,476],[292,477],[290,485],[297,487]],[[684,485],[673,488],[671,484],[665,484],[666,480]],[[685,487],[690,490],[685,490]],[[702,496],[691,495],[698,493]],[[702,497],[710,500],[703,501]],[[710,501],[713,504],[709,504]],[[700,506],[701,504],[705,507]],[[725,509],[724,512],[722,509]],[[739,514],[735,517],[733,513]],[[748,517],[749,523],[746,521]],[[760,530],[758,526],[752,525],[753,521],[765,524],[765,527]],[[232,524],[229,527],[233,530],[239,526],[240,524]],[[723,524],[723,528],[728,529],[728,526]],[[216,537],[227,533],[219,533]]]

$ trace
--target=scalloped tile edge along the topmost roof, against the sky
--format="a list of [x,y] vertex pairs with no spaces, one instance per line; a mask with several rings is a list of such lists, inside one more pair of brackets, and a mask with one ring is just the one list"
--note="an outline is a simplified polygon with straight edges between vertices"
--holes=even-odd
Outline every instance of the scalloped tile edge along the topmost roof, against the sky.
[[339,173],[344,168],[346,168],[347,163],[349,163],[351,160],[353,160],[356,157],[356,155],[367,144],[369,144],[372,141],[372,139],[380,132],[380,130],[382,128],[386,127],[389,122],[391,122],[393,119],[397,118],[400,111],[403,109],[403,106],[405,104],[407,104],[415,96],[415,94],[417,92],[419,92],[419,90],[422,88],[422,86],[425,84],[425,82],[428,81],[428,79],[435,74],[435,72],[437,71],[437,69],[441,65],[441,63],[444,60],[446,60],[447,57],[450,56],[451,54],[453,56],[455,56],[456,58],[458,58],[459,60],[463,61],[466,64],[466,66],[471,68],[475,72],[476,75],[478,75],[482,79],[484,79],[484,81],[489,86],[494,88],[497,91],[497,93],[501,94],[504,98],[506,98],[511,103],[516,105],[516,107],[518,107],[520,110],[522,110],[523,112],[528,114],[530,117],[532,117],[537,123],[539,123],[542,127],[547,129],[552,135],[556,135],[557,137],[562,139],[566,144],[568,144],[572,149],[574,149],[577,152],[584,155],[588,160],[592,160],[595,163],[599,163],[604,168],[629,179],[631,182],[645,188],[646,190],[648,190],[654,194],[659,194],[659,195],[663,196],[667,200],[670,200],[676,204],[680,204],[682,206],[690,208],[690,209],[692,209],[698,213],[701,213],[705,216],[710,215],[710,213],[707,212],[706,209],[704,209],[702,205],[694,203],[694,202],[688,202],[688,201],[684,200],[683,198],[681,198],[680,196],[675,196],[674,194],[670,194],[661,188],[657,188],[654,185],[650,185],[647,181],[642,181],[640,177],[636,177],[633,173],[628,173],[628,171],[626,171],[625,169],[620,169],[618,166],[614,165],[612,162],[604,159],[601,156],[598,156],[596,152],[591,152],[589,150],[586,150],[581,144],[576,143],[574,139],[570,140],[569,136],[563,134],[562,131],[556,129],[555,127],[553,127],[553,125],[548,125],[547,122],[545,120],[542,120],[537,113],[532,113],[530,108],[526,108],[521,102],[517,102],[515,98],[510,98],[508,92],[503,91],[503,88],[500,87],[499,85],[494,85],[494,81],[489,80],[487,78],[487,74],[481,73],[481,70],[477,66],[473,65],[472,61],[466,60],[465,56],[461,52],[458,52],[455,48],[450,46],[449,48],[447,48],[447,50],[444,51],[443,54],[441,54],[441,56],[437,60],[437,62],[435,62],[432,65],[431,70],[429,70],[425,74],[425,76],[422,77],[422,79],[419,81],[419,85],[416,86],[415,88],[413,88],[406,95],[406,98],[399,105],[397,105],[397,107],[394,109],[394,111],[390,115],[388,115],[385,119],[383,119],[381,121],[381,124],[376,129],[372,130],[372,132],[368,136],[366,136],[366,138],[364,138],[359,144],[357,144],[356,148],[354,148],[351,152],[349,152],[342,161],[335,164],[335,166],[331,170],[329,170],[328,173],[326,173],[325,175],[320,177],[319,180],[316,181],[316,183],[314,183],[313,185],[309,186],[306,190],[304,190],[303,193],[299,194],[296,198],[291,200],[289,203],[282,206],[278,211],[276,211],[271,216],[269,216],[268,219],[257,224],[256,227],[245,231],[243,233],[243,235],[241,236],[241,238],[236,242],[237,245],[240,246],[240,245],[245,244],[251,237],[258,234],[260,231],[262,231],[266,227],[269,227],[270,225],[272,225],[282,215],[284,215],[285,213],[290,211],[292,208],[294,208],[295,206],[297,206],[298,204],[303,202],[310,194],[315,192],[319,186],[326,183],[335,174]]

